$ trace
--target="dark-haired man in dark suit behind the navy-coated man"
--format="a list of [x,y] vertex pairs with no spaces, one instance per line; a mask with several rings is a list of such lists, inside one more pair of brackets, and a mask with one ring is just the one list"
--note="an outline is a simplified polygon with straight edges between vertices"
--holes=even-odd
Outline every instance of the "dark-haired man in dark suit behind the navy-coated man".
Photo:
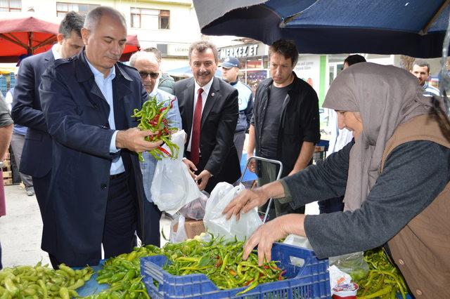
[[20,172],[32,176],[41,215],[44,215],[51,176],[51,137],[42,113],[38,88],[42,74],[53,61],[69,58],[83,48],[83,22],[84,15],[68,12],[59,26],[58,43],[45,53],[22,60],[15,84],[11,114],[15,124],[28,127]]

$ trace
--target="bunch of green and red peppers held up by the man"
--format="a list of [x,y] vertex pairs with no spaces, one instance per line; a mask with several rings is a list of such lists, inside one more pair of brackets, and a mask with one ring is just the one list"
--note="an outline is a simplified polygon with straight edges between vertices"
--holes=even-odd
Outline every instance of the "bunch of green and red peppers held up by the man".
[[[153,135],[146,136],[147,141],[162,140],[165,142],[169,151],[164,147],[156,147],[150,150],[149,153],[157,160],[162,158],[176,158],[178,157],[179,148],[174,142],[170,140],[170,135],[177,128],[171,128],[169,126],[169,120],[166,118],[167,112],[173,107],[173,100],[167,100],[165,102],[158,102],[156,96],[149,96],[148,100],[143,103],[142,109],[134,109],[134,114],[131,117],[139,119],[140,123],[138,128],[141,130],[150,130]],[[169,102],[169,105],[166,105]],[[139,153],[139,161],[143,161],[142,154]]]

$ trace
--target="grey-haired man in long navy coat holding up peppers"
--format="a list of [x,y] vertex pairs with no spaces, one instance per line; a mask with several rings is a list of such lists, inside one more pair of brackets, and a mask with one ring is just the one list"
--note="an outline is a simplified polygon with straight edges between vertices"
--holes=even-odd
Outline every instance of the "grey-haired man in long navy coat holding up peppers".
[[[86,15],[84,50],[49,66],[39,86],[53,138],[52,175],[42,248],[71,267],[97,265],[132,251],[143,218],[143,184],[136,152],[162,142],[144,140],[134,109],[148,95],[139,73],[118,60],[127,25],[114,8]],[[141,227],[143,234],[146,232]],[[55,266],[55,265],[53,265]]]

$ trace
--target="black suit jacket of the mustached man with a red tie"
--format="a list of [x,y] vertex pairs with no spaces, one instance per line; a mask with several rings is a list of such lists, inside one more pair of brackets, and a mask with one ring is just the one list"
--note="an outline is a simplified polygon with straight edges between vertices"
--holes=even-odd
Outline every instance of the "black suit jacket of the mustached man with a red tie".
[[[188,134],[187,140],[191,137],[194,90],[193,78],[178,81],[174,85],[183,128]],[[238,152],[233,143],[238,116],[238,91],[225,81],[214,77],[202,113],[201,156],[197,166],[198,173],[207,169],[213,175],[205,188],[207,192],[211,192],[218,182],[233,183],[240,177]],[[186,147],[187,145],[188,141]]]

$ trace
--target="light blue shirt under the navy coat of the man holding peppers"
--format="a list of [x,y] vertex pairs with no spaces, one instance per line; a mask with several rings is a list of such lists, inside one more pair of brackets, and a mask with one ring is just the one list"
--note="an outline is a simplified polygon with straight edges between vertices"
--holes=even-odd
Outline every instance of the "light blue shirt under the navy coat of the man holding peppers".
[[[87,60],[87,64],[91,68],[91,71],[94,73],[94,78],[96,80],[96,84],[98,88],[100,88],[101,93],[105,97],[106,102],[110,105],[110,114],[108,116],[108,123],[110,125],[110,129],[115,130],[115,120],[114,120],[114,103],[113,103],[113,79],[115,78],[115,68],[111,67],[110,73],[105,78],[103,74],[91,65],[89,60]],[[110,152],[119,152],[117,147],[115,147],[115,138],[118,131],[115,131],[113,134],[113,138],[111,138],[110,142]],[[110,175],[115,175],[118,173],[123,173],[125,171],[124,162],[122,161],[122,157],[118,156],[111,163]]]

